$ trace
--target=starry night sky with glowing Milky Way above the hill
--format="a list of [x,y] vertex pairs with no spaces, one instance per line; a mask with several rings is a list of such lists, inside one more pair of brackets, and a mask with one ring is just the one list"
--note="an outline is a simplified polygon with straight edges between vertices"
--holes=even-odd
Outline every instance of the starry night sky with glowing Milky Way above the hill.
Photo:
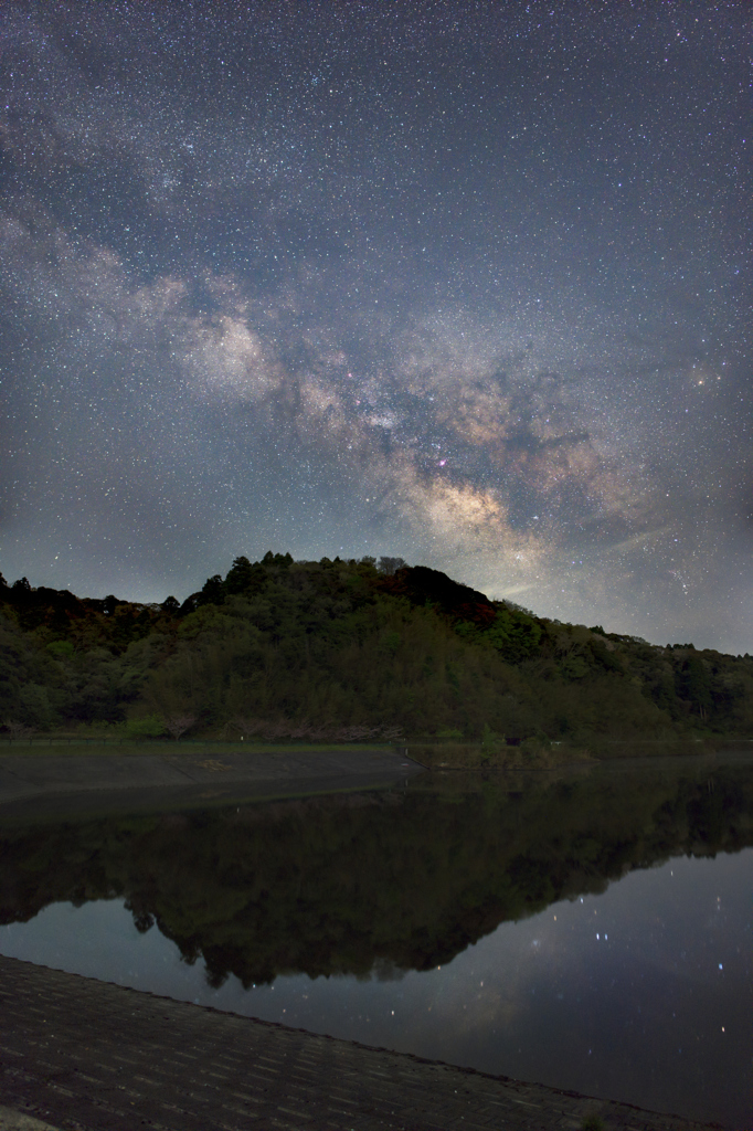
[[6,0],[5,577],[393,554],[753,653],[752,26]]

